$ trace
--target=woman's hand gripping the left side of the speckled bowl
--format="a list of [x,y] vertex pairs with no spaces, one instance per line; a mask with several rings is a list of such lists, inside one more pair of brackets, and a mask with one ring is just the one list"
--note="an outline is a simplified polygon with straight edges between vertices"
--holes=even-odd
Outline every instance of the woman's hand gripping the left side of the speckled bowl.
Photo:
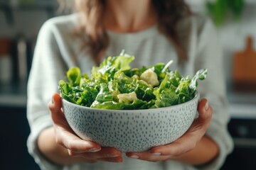
[[122,152],[110,147],[100,147],[95,142],[80,139],[68,125],[62,110],[62,103],[59,94],[54,94],[52,101],[48,103],[55,142],[68,150],[70,159],[75,162],[122,162]]

